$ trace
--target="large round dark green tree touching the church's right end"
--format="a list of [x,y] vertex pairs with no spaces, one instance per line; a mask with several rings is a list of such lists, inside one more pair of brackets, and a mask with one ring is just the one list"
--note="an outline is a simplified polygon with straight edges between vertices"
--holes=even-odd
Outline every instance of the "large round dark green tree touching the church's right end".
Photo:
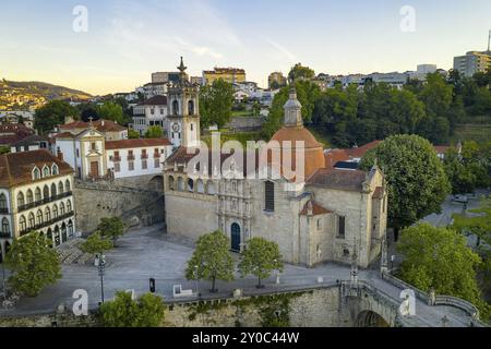
[[361,168],[376,163],[388,184],[388,221],[397,240],[400,228],[441,210],[451,192],[434,147],[417,135],[395,135],[368,152]]

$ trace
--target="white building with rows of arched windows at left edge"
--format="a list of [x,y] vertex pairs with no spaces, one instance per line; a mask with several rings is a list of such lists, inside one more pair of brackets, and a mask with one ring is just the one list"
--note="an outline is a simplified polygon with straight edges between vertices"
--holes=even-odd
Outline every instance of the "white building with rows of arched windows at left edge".
[[53,246],[75,236],[73,169],[48,151],[0,155],[0,261],[39,231]]

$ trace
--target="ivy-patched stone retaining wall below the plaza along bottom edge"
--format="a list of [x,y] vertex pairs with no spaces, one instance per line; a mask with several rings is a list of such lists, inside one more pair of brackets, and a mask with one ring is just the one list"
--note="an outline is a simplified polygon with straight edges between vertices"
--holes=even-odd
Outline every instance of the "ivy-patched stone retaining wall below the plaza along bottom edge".
[[[287,301],[288,310],[279,306]],[[262,327],[266,316],[276,312],[275,305],[289,317],[291,327],[352,326],[350,312],[342,313],[339,287],[298,291],[255,298],[227,299],[206,302],[168,304],[163,327]],[[265,308],[267,308],[265,310]],[[347,315],[344,315],[347,314]],[[356,318],[355,314],[355,318]],[[273,315],[275,316],[275,315]],[[345,317],[343,317],[345,316]],[[75,317],[69,314],[44,314],[0,318],[0,327],[95,327],[95,314]]]

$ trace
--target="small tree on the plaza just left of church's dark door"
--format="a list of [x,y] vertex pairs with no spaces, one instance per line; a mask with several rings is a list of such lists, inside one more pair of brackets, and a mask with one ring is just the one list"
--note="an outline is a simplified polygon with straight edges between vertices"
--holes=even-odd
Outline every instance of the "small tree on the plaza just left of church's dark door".
[[217,230],[200,237],[196,250],[188,262],[188,280],[205,279],[212,281],[212,292],[217,292],[216,280],[233,280],[233,260],[229,252],[230,239]]

